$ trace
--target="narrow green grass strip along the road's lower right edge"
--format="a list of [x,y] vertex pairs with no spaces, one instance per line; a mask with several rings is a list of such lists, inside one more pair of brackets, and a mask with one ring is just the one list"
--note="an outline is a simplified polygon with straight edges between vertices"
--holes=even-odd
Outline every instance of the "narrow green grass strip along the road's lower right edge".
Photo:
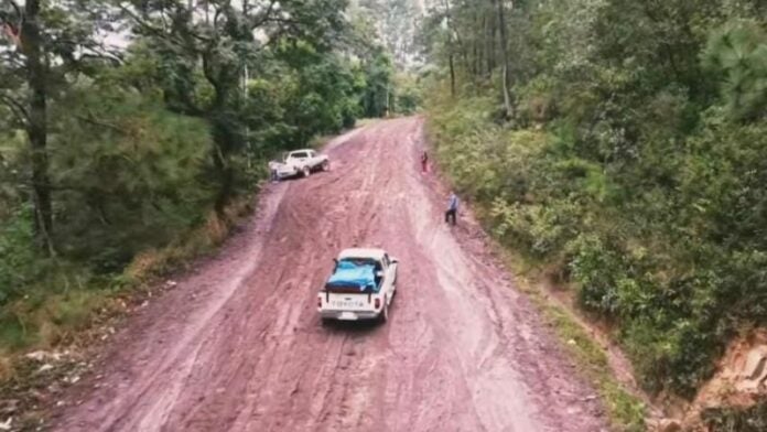
[[646,431],[646,406],[615,378],[609,367],[607,353],[572,317],[570,312],[547,300],[541,281],[537,277],[528,279],[525,276],[529,273],[531,264],[525,263],[520,257],[515,256],[508,249],[505,252],[507,266],[515,273],[519,288],[538,307],[545,323],[554,330],[568,354],[596,388],[613,430],[620,432]]

